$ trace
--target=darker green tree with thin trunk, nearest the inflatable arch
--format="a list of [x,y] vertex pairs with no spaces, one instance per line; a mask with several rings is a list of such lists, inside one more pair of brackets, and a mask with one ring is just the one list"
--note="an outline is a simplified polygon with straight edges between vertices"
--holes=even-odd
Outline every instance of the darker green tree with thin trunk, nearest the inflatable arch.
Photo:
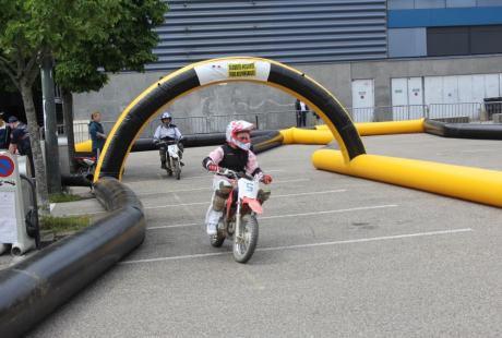
[[[113,16],[109,16],[110,11]],[[99,90],[108,82],[108,73],[143,72],[145,63],[156,60],[152,49],[158,36],[153,28],[164,22],[166,12],[167,4],[159,0],[100,7],[85,19],[88,29],[56,56],[56,82],[61,88],[70,158],[74,154],[72,93]]]

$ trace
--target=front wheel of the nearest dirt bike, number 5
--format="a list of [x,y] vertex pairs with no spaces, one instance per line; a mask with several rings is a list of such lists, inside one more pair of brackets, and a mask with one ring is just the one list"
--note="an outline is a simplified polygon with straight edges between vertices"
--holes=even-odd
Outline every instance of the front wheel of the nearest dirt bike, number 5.
[[239,263],[246,263],[251,258],[258,243],[258,220],[254,215],[242,216],[240,220],[242,239],[234,236],[234,258]]

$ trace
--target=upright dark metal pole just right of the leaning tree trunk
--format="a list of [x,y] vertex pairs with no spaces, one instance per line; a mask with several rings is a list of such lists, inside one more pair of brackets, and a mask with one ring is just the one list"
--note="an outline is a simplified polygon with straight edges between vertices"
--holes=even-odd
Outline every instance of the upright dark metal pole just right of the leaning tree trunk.
[[44,102],[44,126],[47,183],[50,193],[61,192],[61,172],[59,170],[58,135],[56,130],[55,82],[52,77],[52,58],[46,57],[41,64],[41,96]]

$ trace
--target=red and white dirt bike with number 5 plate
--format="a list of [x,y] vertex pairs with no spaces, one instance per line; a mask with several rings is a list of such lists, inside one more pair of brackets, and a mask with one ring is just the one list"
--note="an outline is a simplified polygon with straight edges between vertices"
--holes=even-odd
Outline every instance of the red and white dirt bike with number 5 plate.
[[225,239],[234,239],[234,258],[246,263],[253,255],[258,243],[256,214],[263,213],[262,202],[258,198],[260,181],[230,169],[222,169],[217,173],[229,178],[234,190],[226,201],[217,232],[211,237],[211,245],[219,248]]

